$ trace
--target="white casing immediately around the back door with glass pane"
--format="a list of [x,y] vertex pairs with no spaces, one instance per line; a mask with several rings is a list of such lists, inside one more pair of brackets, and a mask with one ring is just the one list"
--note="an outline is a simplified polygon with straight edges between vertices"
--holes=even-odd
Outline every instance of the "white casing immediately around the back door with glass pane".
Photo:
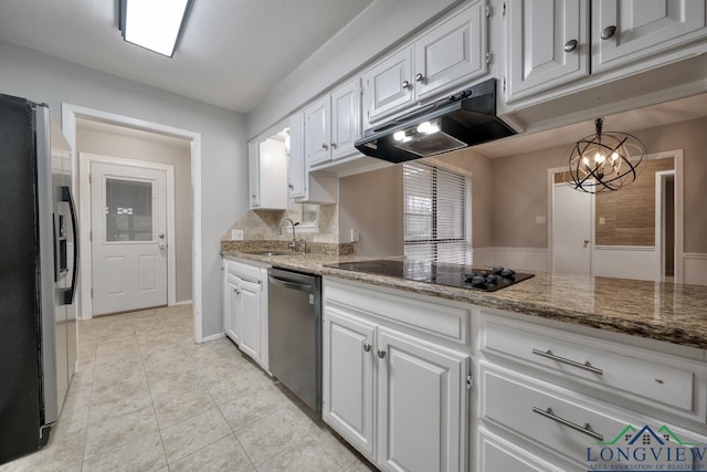
[[[134,167],[138,169],[160,170],[167,176],[167,304],[172,306],[177,303],[177,249],[172,243],[175,238],[175,166],[168,164],[157,164],[146,160],[125,159],[122,157],[103,156],[93,153],[78,153],[78,221],[92,221],[91,213],[91,165],[115,164],[118,166]],[[81,241],[81,303],[83,310],[81,312],[82,319],[93,318],[93,296],[91,289],[93,286],[93,238],[91,234],[91,225],[82,224],[80,228]]]

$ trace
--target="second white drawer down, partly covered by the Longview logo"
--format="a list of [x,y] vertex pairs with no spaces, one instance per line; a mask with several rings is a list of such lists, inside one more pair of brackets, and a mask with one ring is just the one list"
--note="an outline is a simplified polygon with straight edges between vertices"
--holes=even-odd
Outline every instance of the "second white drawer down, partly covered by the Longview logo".
[[[705,451],[705,438],[696,433],[592,401],[568,390],[555,389],[551,385],[496,366],[481,365],[479,384],[479,415],[488,427],[497,426],[518,434],[523,441],[535,443],[534,449],[551,451],[577,463],[578,469],[583,466],[581,470],[587,470],[590,458],[601,458],[604,466],[626,470],[619,469],[626,462],[626,458],[616,452],[619,448],[630,454],[631,448],[647,451],[648,448],[696,447],[700,449],[699,453]],[[603,449],[608,451],[600,457]],[[673,450],[671,453],[678,452]],[[689,451],[683,453],[687,463],[690,463],[689,458],[699,457]],[[669,462],[665,453],[656,460],[647,455],[645,464],[663,463],[666,459]]]

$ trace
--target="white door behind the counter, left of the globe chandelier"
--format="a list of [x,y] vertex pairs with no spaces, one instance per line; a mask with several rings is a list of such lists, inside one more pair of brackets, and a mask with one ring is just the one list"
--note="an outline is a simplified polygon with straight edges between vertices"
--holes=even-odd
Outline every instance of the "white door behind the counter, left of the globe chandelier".
[[552,271],[591,275],[593,196],[558,183],[552,192]]

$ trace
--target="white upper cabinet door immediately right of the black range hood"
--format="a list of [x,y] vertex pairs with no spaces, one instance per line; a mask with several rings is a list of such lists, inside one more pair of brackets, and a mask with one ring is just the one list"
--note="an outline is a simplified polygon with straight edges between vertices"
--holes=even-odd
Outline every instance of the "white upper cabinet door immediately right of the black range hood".
[[509,0],[506,101],[589,74],[587,0]]

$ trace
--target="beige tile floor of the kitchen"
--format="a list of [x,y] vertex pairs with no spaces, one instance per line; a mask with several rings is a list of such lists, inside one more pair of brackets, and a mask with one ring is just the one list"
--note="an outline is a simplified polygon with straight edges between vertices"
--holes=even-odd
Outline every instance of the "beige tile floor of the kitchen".
[[374,470],[191,306],[78,325],[80,371],[50,443],[6,471]]

